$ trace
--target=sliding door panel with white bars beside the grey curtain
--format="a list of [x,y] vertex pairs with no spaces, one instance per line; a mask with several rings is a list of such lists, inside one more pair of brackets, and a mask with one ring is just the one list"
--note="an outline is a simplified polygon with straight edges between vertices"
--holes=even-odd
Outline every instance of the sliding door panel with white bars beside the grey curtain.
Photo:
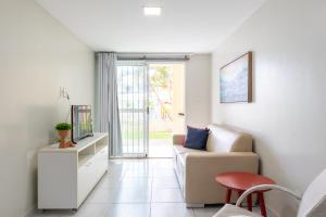
[[148,73],[142,61],[118,61],[117,88],[123,157],[148,154]]

